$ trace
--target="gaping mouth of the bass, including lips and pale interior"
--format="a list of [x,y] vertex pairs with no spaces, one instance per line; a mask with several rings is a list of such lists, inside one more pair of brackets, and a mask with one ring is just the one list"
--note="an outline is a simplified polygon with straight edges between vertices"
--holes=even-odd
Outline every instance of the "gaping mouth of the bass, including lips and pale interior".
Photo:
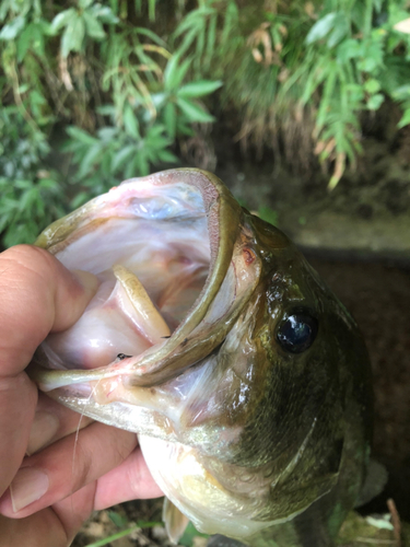
[[[36,244],[101,286],[81,319],[42,345],[31,374],[43,391],[108,423],[117,401],[149,404],[138,386],[164,384],[210,356],[260,275],[242,208],[198,170],[126,181]],[[118,412],[115,423],[141,432],[134,412]]]

